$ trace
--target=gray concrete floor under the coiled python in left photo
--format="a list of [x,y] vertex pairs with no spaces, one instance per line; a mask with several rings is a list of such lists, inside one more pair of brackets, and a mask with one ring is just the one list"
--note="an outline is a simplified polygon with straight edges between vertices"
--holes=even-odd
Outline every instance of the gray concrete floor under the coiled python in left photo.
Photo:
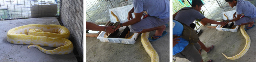
[[[29,45],[17,45],[7,41],[7,32],[15,27],[27,24],[58,24],[56,17],[14,19],[0,21],[0,61],[77,61],[74,53],[66,55],[49,55]],[[54,49],[54,47],[43,47]]]

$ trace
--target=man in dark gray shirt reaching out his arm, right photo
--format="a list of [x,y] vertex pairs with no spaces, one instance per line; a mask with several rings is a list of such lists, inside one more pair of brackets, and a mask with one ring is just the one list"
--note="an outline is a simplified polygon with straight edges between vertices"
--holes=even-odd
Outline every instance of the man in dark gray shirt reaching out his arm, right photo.
[[[178,12],[176,12],[173,15],[173,18],[177,21],[180,21],[182,23],[185,23],[186,25],[190,26],[190,24],[195,21],[196,19],[200,19],[204,22],[210,23],[210,24],[220,24],[222,26],[226,25],[224,22],[217,22],[212,19],[208,19],[202,14],[200,14],[200,10],[203,3],[201,0],[192,0],[192,7],[184,7]],[[204,49],[207,53],[210,52],[210,50],[214,47],[213,45],[211,47],[205,47],[204,44],[199,40],[198,44],[202,46],[201,48]]]

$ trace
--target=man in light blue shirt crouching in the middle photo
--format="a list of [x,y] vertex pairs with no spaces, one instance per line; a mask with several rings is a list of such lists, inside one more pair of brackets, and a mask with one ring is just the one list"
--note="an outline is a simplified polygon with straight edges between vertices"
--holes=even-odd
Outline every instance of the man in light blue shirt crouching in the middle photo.
[[[143,11],[146,11],[148,17],[141,19]],[[132,13],[135,17],[132,18]],[[165,24],[170,21],[170,1],[169,0],[133,0],[133,8],[128,12],[128,20],[117,25],[130,27],[130,32],[145,33],[156,30],[153,39],[158,39],[165,30]],[[131,18],[131,19],[130,19]]]

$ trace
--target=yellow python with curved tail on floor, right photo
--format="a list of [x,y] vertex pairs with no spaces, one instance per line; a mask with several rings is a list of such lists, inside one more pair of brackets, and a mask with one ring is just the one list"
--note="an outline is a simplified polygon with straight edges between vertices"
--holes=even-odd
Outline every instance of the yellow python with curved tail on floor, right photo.
[[[224,16],[226,16],[226,15],[224,14]],[[227,17],[227,16],[226,16],[226,17]],[[227,19],[228,19],[228,18],[227,18]],[[251,39],[250,39],[250,37],[248,36],[248,34],[245,32],[244,26],[245,26],[245,25],[242,25],[242,26],[240,27],[241,33],[243,34],[243,36],[244,36],[244,38],[245,38],[245,40],[246,40],[244,49],[243,49],[240,53],[238,53],[237,55],[232,56],[232,57],[228,57],[228,56],[226,56],[224,53],[222,53],[227,59],[230,59],[230,60],[238,59],[238,58],[242,57],[242,56],[249,50],[250,45],[251,45]]]

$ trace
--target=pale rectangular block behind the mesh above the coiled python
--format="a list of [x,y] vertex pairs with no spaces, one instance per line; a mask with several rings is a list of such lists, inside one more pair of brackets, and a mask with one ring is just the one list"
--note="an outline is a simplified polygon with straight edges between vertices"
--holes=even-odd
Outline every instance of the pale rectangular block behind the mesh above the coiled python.
[[57,3],[54,0],[31,1],[31,16],[47,17],[57,14]]

